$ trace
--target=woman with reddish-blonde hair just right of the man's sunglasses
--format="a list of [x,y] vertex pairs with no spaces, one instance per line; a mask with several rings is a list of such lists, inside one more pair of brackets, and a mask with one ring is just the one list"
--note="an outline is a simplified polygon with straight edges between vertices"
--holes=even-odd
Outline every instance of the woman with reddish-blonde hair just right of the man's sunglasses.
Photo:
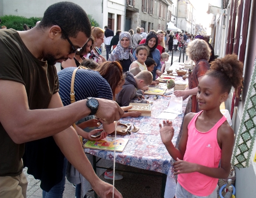
[[101,56],[101,44],[104,42],[104,30],[98,27],[92,27],[92,34],[94,38],[94,46],[90,53],[88,53],[87,58],[93,59],[98,64],[106,62],[105,58]]

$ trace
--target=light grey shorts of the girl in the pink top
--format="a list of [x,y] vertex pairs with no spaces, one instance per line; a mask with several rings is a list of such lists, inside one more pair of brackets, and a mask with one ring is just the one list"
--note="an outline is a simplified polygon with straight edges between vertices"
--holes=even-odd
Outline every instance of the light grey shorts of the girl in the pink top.
[[216,198],[217,197],[217,190],[219,186],[217,185],[215,190],[208,196],[197,196],[194,194],[191,194],[187,190],[185,190],[179,182],[177,183],[177,188],[176,188],[176,198]]

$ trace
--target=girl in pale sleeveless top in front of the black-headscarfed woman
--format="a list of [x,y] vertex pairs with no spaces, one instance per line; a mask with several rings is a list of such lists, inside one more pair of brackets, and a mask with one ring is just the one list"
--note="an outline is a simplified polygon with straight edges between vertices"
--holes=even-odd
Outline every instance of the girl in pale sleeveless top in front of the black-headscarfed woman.
[[135,54],[137,60],[130,65],[129,70],[139,67],[142,71],[146,71],[145,60],[148,54],[150,54],[150,50],[147,46],[138,46]]

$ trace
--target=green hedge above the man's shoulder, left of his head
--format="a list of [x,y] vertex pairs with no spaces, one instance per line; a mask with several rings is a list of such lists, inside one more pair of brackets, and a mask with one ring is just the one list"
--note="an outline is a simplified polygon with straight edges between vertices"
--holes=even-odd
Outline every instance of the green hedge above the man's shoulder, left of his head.
[[0,17],[2,19],[1,26],[6,26],[8,29],[12,28],[14,30],[22,31],[23,24],[27,24],[29,28],[33,28],[35,23],[41,20],[40,17],[30,17],[26,18],[24,16],[15,16],[15,15],[4,15]]

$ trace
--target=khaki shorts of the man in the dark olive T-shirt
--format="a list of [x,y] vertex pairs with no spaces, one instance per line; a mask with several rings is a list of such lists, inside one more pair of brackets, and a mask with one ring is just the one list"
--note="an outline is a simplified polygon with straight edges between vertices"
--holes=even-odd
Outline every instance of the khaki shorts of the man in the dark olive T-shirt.
[[0,177],[1,198],[26,198],[28,181],[24,173],[16,177]]

